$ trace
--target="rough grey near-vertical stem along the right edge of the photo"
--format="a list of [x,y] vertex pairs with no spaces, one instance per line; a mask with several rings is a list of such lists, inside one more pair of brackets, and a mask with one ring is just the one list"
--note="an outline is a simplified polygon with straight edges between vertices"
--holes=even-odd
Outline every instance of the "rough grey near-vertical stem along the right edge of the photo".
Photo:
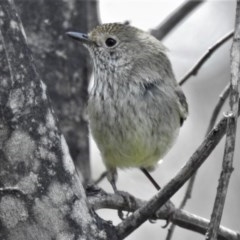
[[239,86],[240,86],[240,0],[237,0],[235,33],[231,49],[231,81],[230,81],[230,109],[228,114],[226,143],[223,156],[222,172],[219,179],[217,194],[211,215],[207,240],[216,240],[221,222],[224,203],[231,173],[233,171],[233,157],[236,141],[237,118],[239,110]]

